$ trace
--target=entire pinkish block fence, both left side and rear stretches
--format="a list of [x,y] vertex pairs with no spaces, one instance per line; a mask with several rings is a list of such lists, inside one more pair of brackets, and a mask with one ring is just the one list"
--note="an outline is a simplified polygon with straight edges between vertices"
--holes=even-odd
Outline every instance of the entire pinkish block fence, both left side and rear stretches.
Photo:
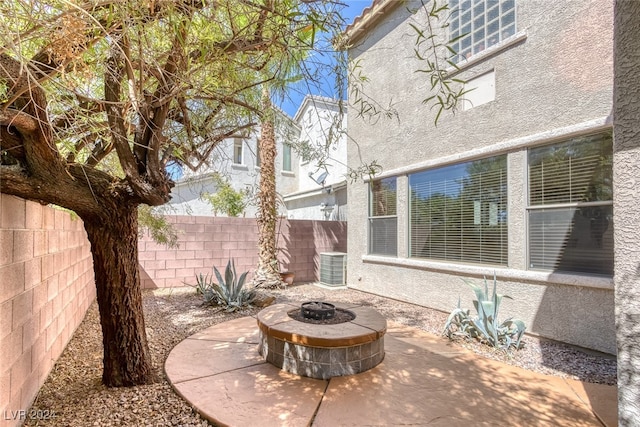
[[[258,262],[255,219],[169,217],[179,247],[142,235],[146,288],[195,284],[195,275],[238,272]],[[346,251],[346,223],[282,220],[279,259],[296,282],[317,280],[321,252]],[[82,221],[62,210],[0,194],[0,427],[21,425],[38,390],[71,339],[96,290],[91,247]],[[51,408],[55,411],[55,408]],[[53,414],[48,414],[53,415]]]

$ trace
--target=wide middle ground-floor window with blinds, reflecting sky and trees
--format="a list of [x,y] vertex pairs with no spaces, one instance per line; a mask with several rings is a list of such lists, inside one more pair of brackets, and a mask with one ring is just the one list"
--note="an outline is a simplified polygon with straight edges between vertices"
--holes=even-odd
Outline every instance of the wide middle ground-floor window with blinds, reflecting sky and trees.
[[409,256],[507,265],[507,156],[409,176]]

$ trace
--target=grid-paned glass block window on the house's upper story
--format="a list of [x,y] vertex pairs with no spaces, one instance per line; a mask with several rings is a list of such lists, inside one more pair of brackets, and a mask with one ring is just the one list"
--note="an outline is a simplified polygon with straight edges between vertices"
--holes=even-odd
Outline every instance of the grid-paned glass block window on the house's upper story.
[[460,62],[516,33],[515,0],[449,0],[450,39]]

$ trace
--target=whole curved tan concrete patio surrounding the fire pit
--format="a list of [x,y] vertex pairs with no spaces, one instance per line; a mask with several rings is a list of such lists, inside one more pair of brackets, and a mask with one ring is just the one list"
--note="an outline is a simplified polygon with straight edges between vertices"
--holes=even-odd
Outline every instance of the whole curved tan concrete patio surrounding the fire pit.
[[[251,317],[233,322],[239,336],[258,329]],[[617,423],[616,387],[529,372],[391,322],[380,365],[330,380],[287,374],[256,360],[257,344],[238,343],[238,337],[230,337],[229,332],[223,323],[199,334],[206,340],[186,339],[172,350],[165,365],[178,393],[219,425]],[[229,340],[228,347],[212,345],[224,340]],[[200,369],[201,365],[208,367]]]

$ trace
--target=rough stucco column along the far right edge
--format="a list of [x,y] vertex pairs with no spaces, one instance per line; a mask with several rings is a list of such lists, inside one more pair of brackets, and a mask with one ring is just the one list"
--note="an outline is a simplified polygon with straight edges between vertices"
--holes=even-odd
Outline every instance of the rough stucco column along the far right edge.
[[618,0],[615,13],[614,220],[618,343],[618,419],[640,420],[640,3]]

